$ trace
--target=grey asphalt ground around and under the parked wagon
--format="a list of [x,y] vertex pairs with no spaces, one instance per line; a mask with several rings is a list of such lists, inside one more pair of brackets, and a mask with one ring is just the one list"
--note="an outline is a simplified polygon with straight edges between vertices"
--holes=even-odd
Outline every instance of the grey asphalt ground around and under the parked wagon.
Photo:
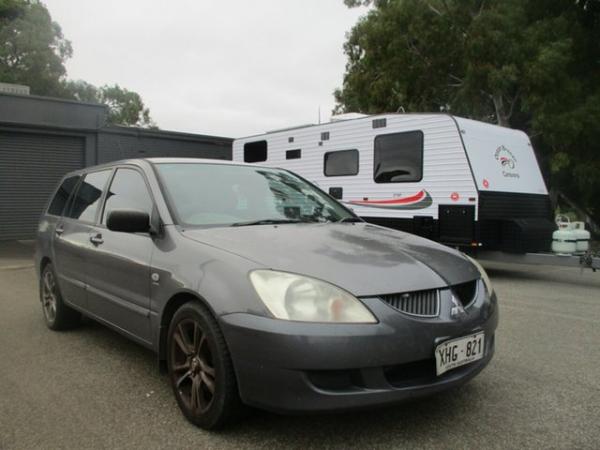
[[211,433],[180,414],[151,352],[93,322],[46,329],[27,252],[0,252],[1,449],[600,446],[600,273],[488,265],[496,355],[461,388],[356,413],[252,410]]

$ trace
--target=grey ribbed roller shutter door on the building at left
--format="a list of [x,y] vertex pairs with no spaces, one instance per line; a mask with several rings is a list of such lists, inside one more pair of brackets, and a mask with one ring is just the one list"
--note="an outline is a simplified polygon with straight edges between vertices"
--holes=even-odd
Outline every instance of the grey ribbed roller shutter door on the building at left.
[[62,176],[84,165],[85,139],[0,131],[0,240],[33,239]]

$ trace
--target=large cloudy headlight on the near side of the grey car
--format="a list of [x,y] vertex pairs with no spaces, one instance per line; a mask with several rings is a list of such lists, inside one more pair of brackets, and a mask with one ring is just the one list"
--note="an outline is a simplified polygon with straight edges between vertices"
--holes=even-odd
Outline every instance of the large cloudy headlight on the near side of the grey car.
[[303,322],[376,323],[365,305],[325,281],[274,270],[254,270],[250,281],[273,316]]

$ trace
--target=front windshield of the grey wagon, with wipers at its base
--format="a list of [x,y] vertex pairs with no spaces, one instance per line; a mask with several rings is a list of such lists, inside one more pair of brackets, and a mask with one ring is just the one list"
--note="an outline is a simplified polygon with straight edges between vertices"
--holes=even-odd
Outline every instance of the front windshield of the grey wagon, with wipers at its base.
[[209,163],[156,167],[182,225],[340,222],[356,217],[285,170]]

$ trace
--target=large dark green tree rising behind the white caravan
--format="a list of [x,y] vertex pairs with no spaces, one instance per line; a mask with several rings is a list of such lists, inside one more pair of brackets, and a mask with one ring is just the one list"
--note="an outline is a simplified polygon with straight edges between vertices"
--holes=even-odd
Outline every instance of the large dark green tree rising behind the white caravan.
[[346,0],[336,111],[451,111],[526,131],[553,190],[600,219],[600,2]]

